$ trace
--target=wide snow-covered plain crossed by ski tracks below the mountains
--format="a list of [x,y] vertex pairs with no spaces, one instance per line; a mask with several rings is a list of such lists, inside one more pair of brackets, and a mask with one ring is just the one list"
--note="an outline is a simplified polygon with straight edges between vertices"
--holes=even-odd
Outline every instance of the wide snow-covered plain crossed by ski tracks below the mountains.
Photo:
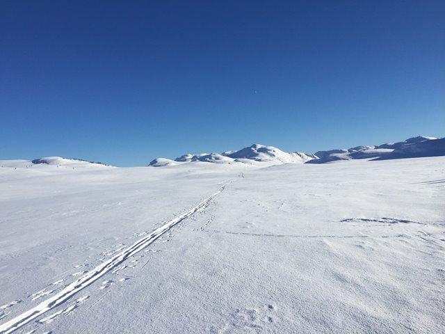
[[445,157],[49,162],[0,161],[0,333],[445,332]]

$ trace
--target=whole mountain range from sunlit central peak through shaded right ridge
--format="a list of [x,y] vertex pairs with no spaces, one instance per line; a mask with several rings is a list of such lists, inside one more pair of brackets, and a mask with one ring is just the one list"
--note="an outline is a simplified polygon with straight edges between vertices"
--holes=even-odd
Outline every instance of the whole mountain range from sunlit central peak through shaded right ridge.
[[273,146],[254,144],[241,150],[223,153],[184,154],[175,160],[157,158],[149,166],[175,166],[187,162],[211,162],[213,164],[324,164],[352,159],[401,159],[409,157],[437,157],[445,155],[445,138],[417,136],[398,143],[356,146],[348,149],[318,151],[315,154],[284,152]]

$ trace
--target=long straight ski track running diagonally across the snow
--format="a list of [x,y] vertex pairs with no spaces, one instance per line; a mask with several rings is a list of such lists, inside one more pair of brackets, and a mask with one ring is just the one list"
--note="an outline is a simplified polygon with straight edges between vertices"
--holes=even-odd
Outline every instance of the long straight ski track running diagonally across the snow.
[[[113,271],[113,269],[122,264],[122,262],[133,257],[133,255],[136,255],[138,252],[140,252],[140,250],[143,250],[144,248],[152,244],[156,239],[161,237],[161,235],[163,235],[165,232],[169,231],[173,226],[177,225],[181,221],[184,221],[184,219],[192,216],[193,214],[195,214],[195,212],[199,212],[202,211],[202,209],[205,209],[209,205],[211,200],[213,200],[213,198],[218,196],[219,193],[224,191],[225,186],[227,186],[231,182],[232,181],[229,181],[223,184],[223,186],[221,186],[216,193],[213,193],[213,195],[200,202],[200,204],[193,207],[185,214],[181,214],[176,218],[173,218],[171,221],[168,221],[167,223],[161,225],[159,228],[156,228],[156,230],[150,232],[142,239],[139,239],[133,245],[125,248],[120,253],[111,257],[111,259],[107,260],[106,262],[103,262],[102,264],[99,264],[99,266],[95,267],[95,269],[88,271],[83,276],[75,280],[73,283],[67,285],[67,287],[65,287],[63,290],[61,290],[57,294],[54,294],[54,296],[52,296],[51,298],[47,299],[46,301],[42,301],[42,303],[35,306],[34,308],[31,308],[31,310],[22,313],[22,315],[18,315],[14,319],[11,319],[6,323],[1,324],[0,333],[1,334],[13,333],[14,331],[17,331],[17,329],[24,326],[25,324],[28,324],[33,319],[40,317],[40,315],[43,315],[44,313],[49,312],[50,310],[56,308],[58,305],[65,303],[65,301],[67,301],[72,296],[80,292],[82,289],[85,289],[86,287],[88,287],[88,285],[91,285],[96,280],[104,276],[106,273]],[[64,311],[65,310],[61,312],[63,313]]]

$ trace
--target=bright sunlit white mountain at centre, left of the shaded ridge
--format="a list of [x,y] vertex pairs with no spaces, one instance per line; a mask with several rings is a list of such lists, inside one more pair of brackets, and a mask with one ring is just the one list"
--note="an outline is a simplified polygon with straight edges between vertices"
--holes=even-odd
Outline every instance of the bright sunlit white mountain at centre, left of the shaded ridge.
[[157,158],[150,162],[149,166],[172,166],[178,163],[195,161],[211,162],[213,164],[302,164],[315,158],[312,154],[288,153],[273,146],[254,144],[248,148],[223,153],[184,154],[175,160]]

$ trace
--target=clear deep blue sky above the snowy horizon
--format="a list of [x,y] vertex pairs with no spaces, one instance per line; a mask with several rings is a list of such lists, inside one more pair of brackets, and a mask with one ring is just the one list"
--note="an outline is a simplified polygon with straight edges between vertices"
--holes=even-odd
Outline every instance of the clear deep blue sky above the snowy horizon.
[[1,1],[0,159],[445,136],[445,1]]

